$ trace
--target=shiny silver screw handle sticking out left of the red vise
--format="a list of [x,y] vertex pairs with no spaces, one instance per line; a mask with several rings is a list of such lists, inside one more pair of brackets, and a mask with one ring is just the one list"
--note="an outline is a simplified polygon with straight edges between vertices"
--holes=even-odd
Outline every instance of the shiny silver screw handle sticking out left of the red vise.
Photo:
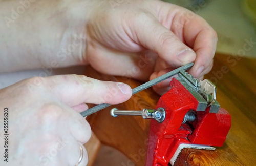
[[110,114],[113,117],[117,117],[117,115],[142,116],[142,118],[144,118],[144,119],[155,119],[161,123],[164,121],[166,113],[165,113],[165,110],[160,107],[157,110],[143,109],[142,111],[118,110],[117,108],[113,108],[110,110]]

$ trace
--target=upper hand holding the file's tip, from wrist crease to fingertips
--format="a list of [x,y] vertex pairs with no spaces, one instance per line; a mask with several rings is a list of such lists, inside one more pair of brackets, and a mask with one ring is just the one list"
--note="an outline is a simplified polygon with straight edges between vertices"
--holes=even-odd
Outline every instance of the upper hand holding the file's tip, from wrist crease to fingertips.
[[[154,0],[127,0],[116,6],[109,1],[94,3],[85,59],[96,70],[140,80],[154,79],[191,61],[195,65],[189,73],[198,79],[211,70],[217,34],[200,16]],[[153,88],[163,94],[169,80]]]

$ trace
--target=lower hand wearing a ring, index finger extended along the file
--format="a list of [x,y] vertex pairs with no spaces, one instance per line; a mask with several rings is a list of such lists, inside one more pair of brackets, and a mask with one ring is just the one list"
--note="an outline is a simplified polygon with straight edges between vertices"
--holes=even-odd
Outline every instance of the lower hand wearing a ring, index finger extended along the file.
[[[82,75],[35,77],[1,89],[0,135],[6,134],[3,121],[8,108],[9,158],[8,162],[1,159],[0,165],[75,165],[80,144],[91,136],[88,122],[79,114],[88,109],[84,102],[120,103],[131,93],[125,84]],[[86,165],[87,153],[81,147],[79,165]]]

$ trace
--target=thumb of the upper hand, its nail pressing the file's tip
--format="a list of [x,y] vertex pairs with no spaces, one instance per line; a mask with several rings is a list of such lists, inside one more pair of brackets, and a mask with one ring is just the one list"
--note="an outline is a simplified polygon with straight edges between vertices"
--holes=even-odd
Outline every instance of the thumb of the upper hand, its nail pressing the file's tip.
[[196,59],[196,53],[158,20],[148,16],[142,17],[144,18],[137,24],[140,28],[135,28],[141,45],[155,51],[172,67],[182,66]]

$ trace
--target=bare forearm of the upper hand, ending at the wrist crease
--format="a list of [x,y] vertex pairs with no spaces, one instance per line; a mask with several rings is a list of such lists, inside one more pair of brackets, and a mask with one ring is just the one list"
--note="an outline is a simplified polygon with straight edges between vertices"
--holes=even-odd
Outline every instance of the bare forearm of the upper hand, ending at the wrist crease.
[[0,53],[4,64],[0,71],[87,64],[84,50],[87,43],[86,24],[92,10],[90,2],[35,1],[26,9],[16,1],[3,3],[0,7],[2,17],[13,19],[13,10],[18,7],[25,10],[18,13],[19,17],[13,22],[5,23],[0,28],[3,34]]

